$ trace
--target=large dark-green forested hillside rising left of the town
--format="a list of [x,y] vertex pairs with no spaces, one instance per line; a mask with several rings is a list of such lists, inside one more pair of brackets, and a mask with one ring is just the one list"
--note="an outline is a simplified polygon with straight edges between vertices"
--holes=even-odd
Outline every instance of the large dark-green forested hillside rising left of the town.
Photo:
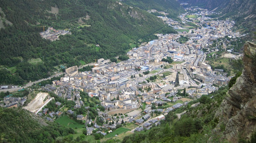
[[[158,31],[176,32],[156,16],[114,0],[9,0],[0,7],[0,16],[11,22],[2,20],[0,29],[0,84],[45,78],[55,66],[115,57],[130,43],[155,39]],[[38,26],[69,29],[72,35],[51,42],[40,37]]]

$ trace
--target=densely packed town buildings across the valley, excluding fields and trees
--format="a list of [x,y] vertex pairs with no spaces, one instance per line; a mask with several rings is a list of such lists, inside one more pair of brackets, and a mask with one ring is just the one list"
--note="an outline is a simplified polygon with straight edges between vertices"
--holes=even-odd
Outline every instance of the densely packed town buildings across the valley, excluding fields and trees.
[[[148,12],[157,12],[156,10],[149,10]],[[165,12],[158,12],[163,15],[168,15]],[[189,20],[201,21],[205,26],[201,29],[194,29],[193,32],[179,32],[179,34],[157,34],[158,39],[143,44],[138,48],[133,48],[127,55],[129,59],[121,61],[119,63],[110,62],[103,58],[95,60],[96,64],[93,65],[92,71],[79,72],[77,66],[73,66],[66,69],[67,75],[61,77],[60,80],[54,80],[52,85],[46,85],[42,87],[42,90],[48,92],[55,92],[58,96],[67,100],[75,102],[74,109],[84,107],[84,103],[81,100],[80,91],[88,93],[89,97],[99,98],[100,104],[106,111],[115,109],[137,109],[144,103],[146,108],[143,110],[144,115],[137,118],[140,113],[130,113],[124,120],[127,122],[134,122],[139,125],[135,128],[136,131],[142,131],[149,128],[152,124],[159,124],[159,120],[164,120],[165,116],[173,109],[180,108],[186,105],[188,102],[177,103],[176,101],[182,97],[178,95],[177,89],[183,89],[190,87],[186,93],[189,94],[189,98],[195,99],[202,95],[210,94],[218,87],[212,86],[216,84],[227,85],[230,78],[225,77],[223,70],[211,69],[211,66],[204,63],[206,54],[201,50],[212,44],[212,41],[216,38],[224,37],[226,35],[236,36],[230,29],[234,25],[232,21],[207,21],[206,16],[211,12],[202,11],[195,13],[198,16],[195,18],[189,18]],[[189,20],[185,18],[185,14],[181,16],[182,22],[185,24]],[[179,22],[169,19],[167,17],[159,17],[163,19],[169,25],[175,25],[176,29],[182,29],[179,26]],[[55,30],[52,27],[48,28],[45,32],[41,32],[40,35],[43,38],[50,39],[52,41],[58,39],[58,35],[71,34],[65,30]],[[181,44],[176,39],[181,37],[181,34],[189,37],[191,40]],[[214,49],[218,51],[217,48]],[[179,64],[173,64],[172,68],[164,69],[163,66],[169,65],[162,61],[162,59],[172,59],[179,62]],[[143,74],[143,71],[156,71],[149,73],[149,75]],[[163,72],[170,72],[176,74],[183,74],[183,79],[179,80],[179,86],[174,87],[176,82],[175,77],[173,81],[166,80],[161,76],[163,83],[160,82],[148,82],[149,76],[157,76],[163,74]],[[168,82],[167,82],[168,81]],[[197,83],[197,84],[196,84]],[[192,88],[194,87],[194,88]],[[2,86],[1,88],[8,88],[8,86]],[[149,90],[148,90],[149,89]],[[22,105],[26,101],[26,97],[4,97],[4,103],[6,107]],[[168,106],[165,109],[158,108],[168,103],[173,103],[172,106]],[[61,103],[56,102],[56,106],[60,106]],[[154,107],[155,109],[152,109]],[[88,107],[84,107],[86,109]],[[104,123],[112,122],[116,120],[115,116],[111,117],[107,113],[102,113],[99,109],[98,116]],[[47,120],[52,121],[52,118],[57,115],[61,115],[62,112],[47,113],[48,109],[45,108],[42,112],[38,113],[40,116],[49,114],[51,117],[47,117]],[[132,111],[134,112],[134,111]],[[162,113],[152,119],[151,113]],[[72,115],[74,112],[68,110],[67,114]],[[86,120],[83,115],[76,115],[77,120]],[[117,122],[116,122],[117,123]],[[88,124],[93,124],[92,120],[89,120]],[[118,124],[118,123],[117,123]],[[98,126],[96,123],[92,127],[86,128],[87,134],[91,135],[95,128],[108,128],[113,130],[117,124],[103,124]],[[106,133],[99,132],[103,135]]]

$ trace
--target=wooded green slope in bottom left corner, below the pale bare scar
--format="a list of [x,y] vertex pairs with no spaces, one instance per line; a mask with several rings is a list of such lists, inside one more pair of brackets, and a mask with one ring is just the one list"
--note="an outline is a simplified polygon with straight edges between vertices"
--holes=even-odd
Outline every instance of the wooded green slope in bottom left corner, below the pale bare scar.
[[46,122],[26,109],[0,107],[0,121],[0,142],[50,143],[58,136],[66,136],[67,142],[73,140],[68,136],[74,133],[72,128]]

